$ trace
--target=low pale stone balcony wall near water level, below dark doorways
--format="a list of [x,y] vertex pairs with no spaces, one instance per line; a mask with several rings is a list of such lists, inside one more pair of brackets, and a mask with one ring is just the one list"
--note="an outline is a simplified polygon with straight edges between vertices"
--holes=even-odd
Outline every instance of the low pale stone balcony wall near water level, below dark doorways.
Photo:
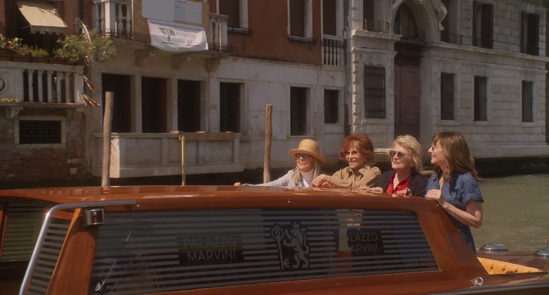
[[[185,174],[240,172],[240,134],[184,132]],[[92,173],[101,176],[103,134],[93,134]],[[181,175],[178,132],[113,133],[110,141],[110,177]]]

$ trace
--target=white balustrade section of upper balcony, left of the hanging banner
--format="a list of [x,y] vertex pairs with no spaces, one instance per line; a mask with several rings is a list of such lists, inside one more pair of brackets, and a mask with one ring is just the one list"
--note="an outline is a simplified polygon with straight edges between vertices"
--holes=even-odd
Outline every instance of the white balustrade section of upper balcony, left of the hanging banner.
[[93,0],[93,28],[120,36],[132,36],[130,0]]

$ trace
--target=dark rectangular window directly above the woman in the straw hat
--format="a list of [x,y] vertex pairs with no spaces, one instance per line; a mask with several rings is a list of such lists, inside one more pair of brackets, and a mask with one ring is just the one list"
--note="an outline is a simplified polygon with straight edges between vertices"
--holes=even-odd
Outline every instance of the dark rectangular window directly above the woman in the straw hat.
[[307,88],[290,87],[290,135],[305,135],[307,127]]

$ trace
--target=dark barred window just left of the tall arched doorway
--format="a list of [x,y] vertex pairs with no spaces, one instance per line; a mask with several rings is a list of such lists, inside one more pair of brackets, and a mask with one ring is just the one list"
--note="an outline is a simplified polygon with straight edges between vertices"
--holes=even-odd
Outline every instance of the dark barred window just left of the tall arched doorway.
[[384,67],[364,67],[364,106],[367,118],[385,118]]

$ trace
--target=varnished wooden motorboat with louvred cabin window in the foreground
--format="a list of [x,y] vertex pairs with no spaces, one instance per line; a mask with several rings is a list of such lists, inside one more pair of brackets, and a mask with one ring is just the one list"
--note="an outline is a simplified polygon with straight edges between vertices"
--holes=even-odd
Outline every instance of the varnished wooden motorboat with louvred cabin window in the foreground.
[[0,294],[549,294],[547,263],[479,261],[423,198],[13,189],[0,191],[0,217]]

